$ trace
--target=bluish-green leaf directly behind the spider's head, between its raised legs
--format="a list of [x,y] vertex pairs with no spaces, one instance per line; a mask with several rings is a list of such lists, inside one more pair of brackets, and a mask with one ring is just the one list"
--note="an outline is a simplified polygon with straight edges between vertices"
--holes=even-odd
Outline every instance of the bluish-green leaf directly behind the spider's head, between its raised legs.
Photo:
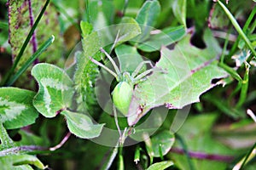
[[143,62],[143,57],[137,52],[137,48],[129,45],[119,45],[114,48],[115,54],[119,59],[119,68],[121,72],[135,71],[137,66]]

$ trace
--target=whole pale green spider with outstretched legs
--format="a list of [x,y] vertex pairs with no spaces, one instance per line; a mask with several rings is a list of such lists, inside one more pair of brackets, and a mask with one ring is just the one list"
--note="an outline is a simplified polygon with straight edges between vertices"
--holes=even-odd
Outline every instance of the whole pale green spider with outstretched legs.
[[[152,71],[156,71],[154,66],[150,61],[143,61],[139,65],[137,65],[137,68],[132,73],[128,71],[124,71],[121,73],[119,67],[116,65],[116,63],[113,61],[111,56],[103,49],[101,48],[102,53],[104,53],[108,59],[110,60],[111,64],[113,65],[113,68],[115,72],[110,70],[107,66],[102,65],[102,63],[96,61],[95,59],[90,57],[90,60],[95,63],[96,65],[101,66],[103,69],[108,71],[113,77],[116,78],[116,81],[119,82],[116,87],[113,89],[112,96],[113,96],[113,105],[124,115],[127,116],[130,104],[131,104],[131,98],[133,94],[133,88],[138,82],[142,82],[144,79],[143,77],[146,77],[149,73]],[[143,65],[150,65],[152,68],[144,71],[143,73],[139,72],[143,69]]]

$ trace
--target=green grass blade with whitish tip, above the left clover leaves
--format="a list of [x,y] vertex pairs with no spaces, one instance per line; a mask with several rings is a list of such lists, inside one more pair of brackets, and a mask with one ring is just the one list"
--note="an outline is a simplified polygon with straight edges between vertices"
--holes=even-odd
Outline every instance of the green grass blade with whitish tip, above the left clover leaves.
[[49,45],[54,42],[55,40],[55,37],[54,36],[51,36],[46,42],[44,42],[44,44],[42,46],[40,46],[40,48],[38,48],[38,50],[36,51],[36,53],[32,54],[32,56],[26,60],[26,63],[24,65],[22,65],[22,67],[20,68],[19,71],[17,71],[17,73],[13,76],[13,77],[10,77],[9,81],[6,83],[6,86],[11,86],[19,77],[20,75],[26,71],[26,69],[32,65],[33,61],[35,59],[38,58],[38,56],[40,54],[42,54],[48,47]]

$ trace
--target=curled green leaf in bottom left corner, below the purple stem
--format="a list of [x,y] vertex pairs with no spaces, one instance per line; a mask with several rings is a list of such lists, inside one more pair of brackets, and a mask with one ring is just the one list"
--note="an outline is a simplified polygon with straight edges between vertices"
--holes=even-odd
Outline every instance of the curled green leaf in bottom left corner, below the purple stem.
[[1,169],[22,169],[22,170],[32,170],[30,165],[44,169],[44,164],[38,160],[36,156],[30,155],[9,155],[0,156]]

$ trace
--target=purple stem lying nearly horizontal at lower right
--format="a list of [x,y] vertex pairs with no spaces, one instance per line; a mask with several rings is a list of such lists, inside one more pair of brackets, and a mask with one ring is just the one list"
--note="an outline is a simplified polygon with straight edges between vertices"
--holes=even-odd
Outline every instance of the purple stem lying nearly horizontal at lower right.
[[[171,152],[177,153],[177,154],[184,154],[183,149],[179,148],[172,148]],[[217,154],[207,154],[197,151],[189,151],[189,156],[196,159],[206,159],[211,161],[225,161],[230,162],[234,160],[234,156],[223,156],[223,155],[217,155]]]

